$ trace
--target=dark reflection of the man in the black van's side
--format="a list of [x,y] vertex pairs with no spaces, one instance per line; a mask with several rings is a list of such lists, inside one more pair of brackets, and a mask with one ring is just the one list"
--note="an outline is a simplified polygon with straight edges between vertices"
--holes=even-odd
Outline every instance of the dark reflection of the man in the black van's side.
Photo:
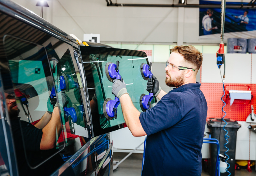
[[[68,99],[65,98],[65,95],[61,96],[64,104],[67,104]],[[19,175],[45,176],[53,173],[64,163],[59,154],[54,155],[56,153],[56,136],[58,137],[61,132],[58,106],[55,105],[52,114],[46,112],[39,123],[34,126],[20,120],[15,96],[5,93],[5,97],[11,119]],[[53,157],[51,157],[52,155]],[[31,169],[48,158],[50,159],[41,166]]]

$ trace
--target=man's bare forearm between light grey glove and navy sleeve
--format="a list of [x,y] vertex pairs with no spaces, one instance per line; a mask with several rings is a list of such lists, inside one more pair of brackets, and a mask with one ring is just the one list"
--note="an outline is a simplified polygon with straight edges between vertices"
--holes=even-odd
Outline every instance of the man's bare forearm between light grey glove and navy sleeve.
[[120,97],[120,103],[124,114],[124,120],[133,136],[145,136],[147,135],[141,126],[139,121],[140,112],[132,104],[132,100],[128,94]]

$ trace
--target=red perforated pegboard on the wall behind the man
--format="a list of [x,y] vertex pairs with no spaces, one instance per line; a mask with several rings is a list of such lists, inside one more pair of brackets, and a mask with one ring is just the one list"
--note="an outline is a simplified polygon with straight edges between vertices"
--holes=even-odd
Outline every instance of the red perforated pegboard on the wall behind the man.
[[[236,121],[246,121],[247,116],[251,113],[251,105],[256,104],[256,84],[224,84],[224,85],[238,85],[238,86],[228,86],[228,90],[248,90],[245,85],[251,86],[252,90],[252,100],[235,100],[230,106],[230,98],[224,97],[224,101],[227,103],[224,107],[226,111],[227,118]],[[222,113],[222,101],[221,97],[223,95],[222,83],[201,83],[201,91],[205,95],[205,99],[208,105],[207,118],[209,117],[221,117]],[[239,103],[239,104],[238,104]],[[224,113],[223,113],[224,116]]]

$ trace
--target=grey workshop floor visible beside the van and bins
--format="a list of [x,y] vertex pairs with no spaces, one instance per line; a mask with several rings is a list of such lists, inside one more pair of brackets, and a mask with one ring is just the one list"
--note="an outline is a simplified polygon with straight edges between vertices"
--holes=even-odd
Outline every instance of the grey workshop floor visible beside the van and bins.
[[[114,153],[114,160],[122,160],[128,153]],[[118,169],[114,171],[113,176],[140,176],[142,166],[142,154],[132,154]],[[202,172],[201,176],[209,176],[208,173]],[[235,171],[235,176],[256,176],[255,167],[252,173],[248,173],[245,169]]]

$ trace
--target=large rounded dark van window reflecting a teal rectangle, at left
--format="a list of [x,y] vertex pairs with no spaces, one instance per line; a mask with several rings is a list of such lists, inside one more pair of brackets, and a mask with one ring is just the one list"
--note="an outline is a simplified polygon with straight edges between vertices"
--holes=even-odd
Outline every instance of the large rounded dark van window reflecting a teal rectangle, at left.
[[[50,155],[49,152],[48,155],[39,155],[35,153],[39,150],[39,146],[36,142],[31,143],[31,140],[36,141],[35,137],[37,136],[40,138],[39,133],[41,132],[38,130],[26,130],[26,128],[23,127],[25,124],[23,123],[24,121],[36,124],[48,110],[47,102],[51,93],[50,90],[53,85],[55,85],[52,81],[48,57],[45,48],[41,45],[36,45],[12,36],[5,36],[4,45],[14,86],[13,94],[16,96],[16,103],[20,110],[19,117],[21,117],[20,121],[17,123],[13,121],[13,124],[16,124],[14,125],[16,128],[12,130],[16,131],[17,128],[19,128],[22,131],[22,141],[20,145],[23,145],[23,147],[19,146],[19,148],[25,150],[28,165],[30,167],[36,167],[64,148],[64,143],[60,145],[57,140],[65,141],[64,135],[62,134],[59,139],[56,138],[56,148],[58,150],[55,150],[55,152],[52,152]],[[10,112],[9,116],[10,119],[12,119],[13,115],[10,114]],[[60,121],[59,123],[62,122]],[[14,143],[17,136],[15,136],[15,134],[16,133],[14,133]],[[15,145],[17,144],[16,142]],[[40,159],[35,160],[32,155],[37,154],[37,157]]]

